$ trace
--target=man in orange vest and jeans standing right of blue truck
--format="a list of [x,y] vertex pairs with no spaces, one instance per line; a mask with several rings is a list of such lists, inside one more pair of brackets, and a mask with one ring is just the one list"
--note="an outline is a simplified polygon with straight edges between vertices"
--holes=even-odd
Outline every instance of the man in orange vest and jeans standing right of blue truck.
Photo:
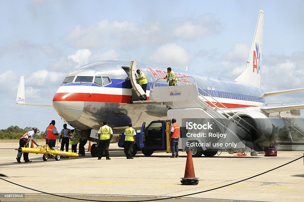
[[169,140],[172,156],[170,158],[178,158],[178,139],[181,126],[176,123],[176,119],[172,119],[171,124]]

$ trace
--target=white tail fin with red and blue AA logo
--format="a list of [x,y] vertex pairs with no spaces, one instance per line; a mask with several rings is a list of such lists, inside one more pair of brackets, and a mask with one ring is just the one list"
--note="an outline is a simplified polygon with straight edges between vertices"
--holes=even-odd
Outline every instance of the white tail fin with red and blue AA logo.
[[237,82],[260,87],[263,26],[264,11],[260,10],[246,69],[240,76],[235,79]]

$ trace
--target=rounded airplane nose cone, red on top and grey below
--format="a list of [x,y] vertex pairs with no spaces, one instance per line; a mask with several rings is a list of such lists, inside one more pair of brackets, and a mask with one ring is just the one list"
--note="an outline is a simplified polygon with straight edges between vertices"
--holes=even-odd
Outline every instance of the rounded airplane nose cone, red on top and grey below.
[[83,93],[56,93],[53,98],[54,110],[65,121],[77,120],[84,107]]

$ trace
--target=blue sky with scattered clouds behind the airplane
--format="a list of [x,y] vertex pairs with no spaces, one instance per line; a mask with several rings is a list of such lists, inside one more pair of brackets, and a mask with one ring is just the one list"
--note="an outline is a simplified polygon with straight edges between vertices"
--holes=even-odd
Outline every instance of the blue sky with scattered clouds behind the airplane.
[[[266,92],[302,88],[303,7],[300,0],[1,1],[0,129],[18,125],[43,131],[52,119],[62,127],[52,108],[16,105],[22,75],[28,103],[52,103],[69,72],[106,59],[188,66],[234,79],[244,71],[261,9],[261,87]],[[303,93],[266,103],[303,103]]]

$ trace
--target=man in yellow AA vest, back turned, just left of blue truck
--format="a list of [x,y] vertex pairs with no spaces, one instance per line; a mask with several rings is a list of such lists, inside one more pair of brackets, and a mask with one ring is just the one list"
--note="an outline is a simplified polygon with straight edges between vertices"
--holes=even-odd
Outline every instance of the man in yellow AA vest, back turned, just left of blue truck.
[[105,149],[106,160],[111,160],[109,155],[109,146],[112,137],[113,137],[112,128],[108,126],[107,121],[104,121],[103,126],[100,127],[98,131],[98,151],[100,154],[100,156],[98,156],[98,160],[100,160],[102,157],[103,149]]

